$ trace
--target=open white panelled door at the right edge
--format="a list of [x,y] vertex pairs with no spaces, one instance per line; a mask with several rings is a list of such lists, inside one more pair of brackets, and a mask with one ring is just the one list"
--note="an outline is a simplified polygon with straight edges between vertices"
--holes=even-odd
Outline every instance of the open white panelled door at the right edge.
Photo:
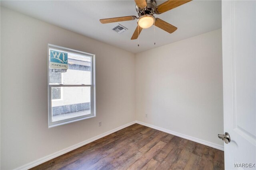
[[255,0],[222,1],[222,51],[225,169],[256,169]]

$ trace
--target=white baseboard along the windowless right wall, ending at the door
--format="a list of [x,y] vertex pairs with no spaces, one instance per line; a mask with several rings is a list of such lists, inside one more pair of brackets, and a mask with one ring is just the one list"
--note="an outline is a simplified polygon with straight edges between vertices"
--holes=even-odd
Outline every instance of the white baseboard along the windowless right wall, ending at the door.
[[184,139],[188,139],[188,140],[194,141],[196,143],[201,143],[203,145],[206,145],[206,146],[209,146],[209,147],[212,147],[212,148],[215,148],[215,149],[224,150],[224,146],[223,145],[218,145],[216,143],[211,143],[211,142],[208,142],[208,141],[204,141],[202,139],[198,139],[198,138],[191,137],[191,136],[188,136],[188,135],[184,135],[184,134],[181,134],[181,133],[178,133],[178,132],[170,131],[168,129],[164,129],[162,127],[150,125],[148,123],[144,123],[144,122],[141,122],[141,121],[135,121],[135,122],[140,124],[140,125],[151,127],[153,129],[156,129],[156,130],[159,130],[159,131],[163,131],[165,133],[169,133],[169,134],[172,134],[172,135],[175,135],[175,136],[178,136],[178,137],[182,137]]

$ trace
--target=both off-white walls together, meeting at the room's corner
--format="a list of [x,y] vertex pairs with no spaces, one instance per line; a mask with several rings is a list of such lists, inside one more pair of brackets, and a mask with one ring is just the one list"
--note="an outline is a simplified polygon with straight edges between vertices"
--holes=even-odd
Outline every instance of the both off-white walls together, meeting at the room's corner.
[[[1,7],[0,33],[1,169],[134,120],[223,145],[221,30],[134,55]],[[48,129],[48,43],[96,55],[95,118]]]

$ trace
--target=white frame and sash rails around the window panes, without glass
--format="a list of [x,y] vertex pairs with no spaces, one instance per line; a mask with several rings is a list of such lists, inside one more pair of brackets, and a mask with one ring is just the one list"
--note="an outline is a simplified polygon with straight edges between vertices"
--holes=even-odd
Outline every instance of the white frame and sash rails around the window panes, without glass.
[[[87,57],[91,57],[91,84],[50,84],[50,76],[49,76],[49,61],[50,61],[50,48],[56,50],[62,50],[72,53],[78,53],[80,55],[86,55]],[[89,119],[92,117],[96,117],[96,83],[95,83],[95,55],[90,53],[85,53],[82,51],[77,51],[73,49],[68,49],[65,47],[60,47],[57,45],[48,44],[48,51],[47,51],[47,63],[48,63],[48,128],[56,127],[59,125],[64,125],[84,119]],[[78,117],[72,117],[69,119],[64,119],[60,121],[52,122],[52,87],[90,87],[90,109],[91,113],[88,115],[81,115]],[[58,99],[57,99],[58,100]]]

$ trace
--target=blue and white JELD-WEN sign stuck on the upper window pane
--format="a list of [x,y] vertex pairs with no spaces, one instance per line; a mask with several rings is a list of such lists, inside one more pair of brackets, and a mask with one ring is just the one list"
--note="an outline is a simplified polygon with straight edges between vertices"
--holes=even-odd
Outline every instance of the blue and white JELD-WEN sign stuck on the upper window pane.
[[50,68],[68,69],[68,53],[50,50]]

